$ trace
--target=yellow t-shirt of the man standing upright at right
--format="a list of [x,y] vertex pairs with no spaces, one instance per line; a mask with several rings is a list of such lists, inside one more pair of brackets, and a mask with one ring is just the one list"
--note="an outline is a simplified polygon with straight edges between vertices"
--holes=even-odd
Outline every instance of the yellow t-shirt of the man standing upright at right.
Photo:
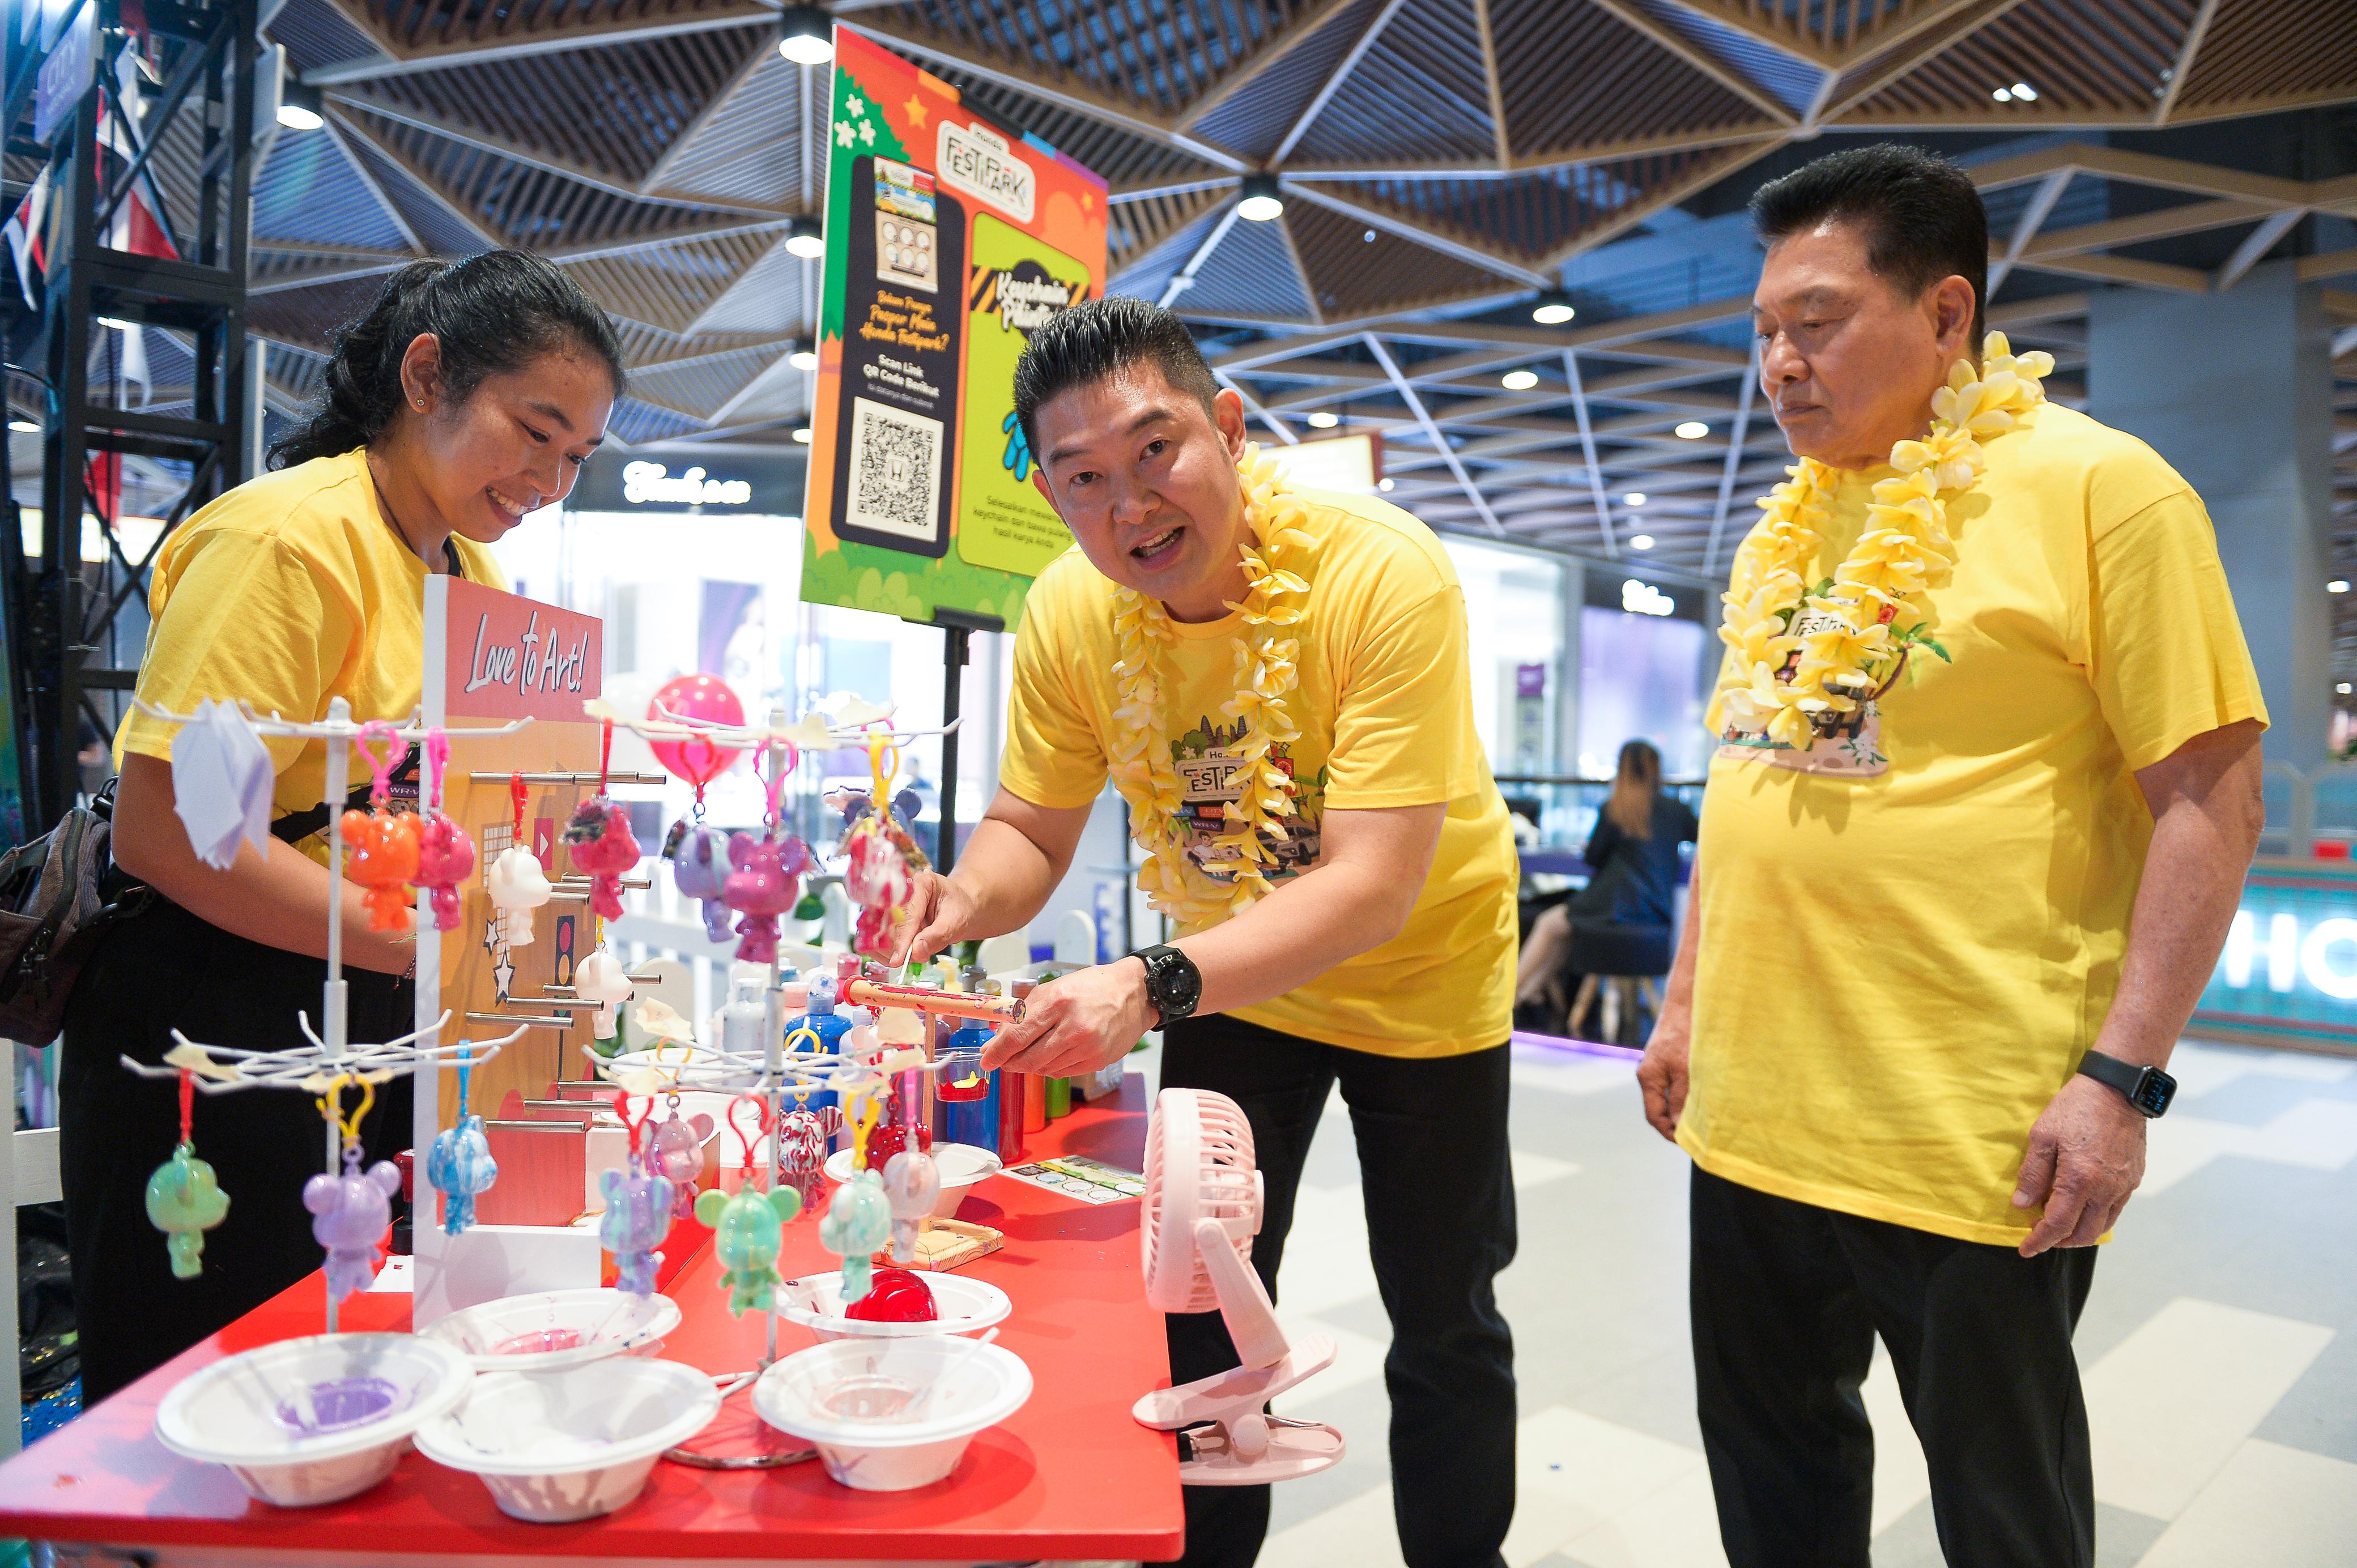
[[[2152,448],[2048,403],[1985,450],[1930,594],[1947,660],[1909,658],[1805,757],[1718,747],[1678,1144],[1742,1186],[2015,1245],[2029,1127],[2119,986],[2135,769],[2267,714],[2201,498]],[[1843,479],[1810,580],[1881,476]]]

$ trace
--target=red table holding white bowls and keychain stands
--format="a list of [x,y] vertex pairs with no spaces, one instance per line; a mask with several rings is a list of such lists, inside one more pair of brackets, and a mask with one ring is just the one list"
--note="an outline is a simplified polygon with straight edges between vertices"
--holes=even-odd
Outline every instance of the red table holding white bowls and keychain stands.
[[[1091,1153],[1136,1170],[1146,1096],[1131,1078],[1032,1134],[1032,1153]],[[163,1563],[495,1563],[544,1561],[813,1561],[813,1559],[1143,1559],[1181,1549],[1178,1457],[1167,1434],[1129,1405],[1169,1382],[1162,1318],[1138,1283],[1138,1205],[1089,1207],[995,1177],[959,1214],[1006,1233],[1006,1247],[966,1264],[1014,1299],[999,1344],[1032,1370],[1032,1396],[973,1438],[957,1474],[915,1493],[853,1493],[816,1462],[771,1471],[655,1464],[646,1493],[577,1526],[516,1523],[483,1483],[408,1455],[384,1485],[321,1509],[252,1502],[226,1469],[179,1460],[156,1441],[156,1405],[189,1372],[222,1356],[321,1330],[323,1283],[311,1276],[61,1431],[0,1464],[0,1535],[139,1547]],[[163,1238],[156,1238],[163,1245]],[[834,1259],[818,1226],[787,1226],[780,1269],[816,1273]],[[764,1318],[731,1318],[709,1252],[669,1285],[684,1323],[665,1356],[731,1372],[761,1353]],[[408,1294],[344,1304],[351,1330],[405,1330]],[[811,1344],[778,1325],[778,1351]],[[742,1410],[742,1415],[740,1415]],[[738,1394],[721,1422],[750,1422]]]

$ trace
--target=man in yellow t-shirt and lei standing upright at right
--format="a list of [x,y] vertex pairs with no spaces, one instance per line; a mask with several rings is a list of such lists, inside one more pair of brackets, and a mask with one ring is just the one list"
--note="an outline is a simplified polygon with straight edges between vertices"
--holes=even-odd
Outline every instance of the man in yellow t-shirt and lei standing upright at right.
[[1947,1561],[2084,1568],[2072,1330],[2258,842],[2265,707],[2201,500],[1982,340],[1961,170],[1864,146],[1751,210],[1798,465],[1735,559],[1638,1068],[1695,1158],[1721,1537],[1867,1568],[1879,1335]]

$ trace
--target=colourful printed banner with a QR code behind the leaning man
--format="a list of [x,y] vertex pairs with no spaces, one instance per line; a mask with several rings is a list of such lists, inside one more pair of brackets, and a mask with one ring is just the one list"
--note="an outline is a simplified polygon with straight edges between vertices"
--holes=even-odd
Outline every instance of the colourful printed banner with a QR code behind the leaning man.
[[1023,615],[1070,542],[1014,417],[1030,335],[1105,288],[1105,182],[837,31],[801,597]]

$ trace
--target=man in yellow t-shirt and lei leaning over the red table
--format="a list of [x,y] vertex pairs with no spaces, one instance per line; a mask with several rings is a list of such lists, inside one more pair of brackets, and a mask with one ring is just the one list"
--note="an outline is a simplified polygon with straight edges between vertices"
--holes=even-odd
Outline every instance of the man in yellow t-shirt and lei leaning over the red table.
[[[1186,325],[1094,299],[1016,368],[1035,483],[1075,547],[1016,637],[999,795],[912,953],[1028,924],[1110,778],[1171,943],[1042,990],[985,1063],[1089,1073],[1162,1028],[1162,1085],[1252,1118],[1275,1292],[1327,1092],[1358,1134],[1400,1549],[1497,1563],[1513,1518],[1506,1035],[1516,858],[1473,729],[1466,606],[1440,540],[1362,495],[1292,490],[1244,443]],[[1169,1318],[1171,1379],[1237,1365]],[[1186,1488],[1188,1563],[1249,1568],[1268,1488]]]

